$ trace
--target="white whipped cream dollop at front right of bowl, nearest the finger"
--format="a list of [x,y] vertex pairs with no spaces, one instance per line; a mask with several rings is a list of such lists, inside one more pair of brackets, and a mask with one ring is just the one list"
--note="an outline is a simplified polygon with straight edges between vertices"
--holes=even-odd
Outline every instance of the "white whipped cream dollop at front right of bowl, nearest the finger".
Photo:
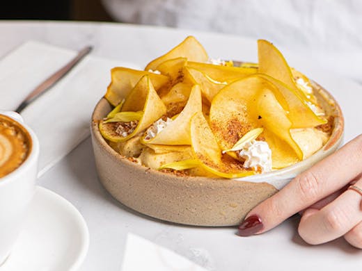
[[272,171],[272,150],[265,141],[251,140],[246,142],[238,155],[245,159],[244,167],[264,173]]

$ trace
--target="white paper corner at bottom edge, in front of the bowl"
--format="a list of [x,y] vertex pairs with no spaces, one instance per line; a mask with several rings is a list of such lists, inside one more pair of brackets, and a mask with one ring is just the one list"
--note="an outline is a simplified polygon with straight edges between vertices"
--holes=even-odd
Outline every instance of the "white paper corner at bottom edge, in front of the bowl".
[[128,233],[122,271],[207,271],[169,249]]

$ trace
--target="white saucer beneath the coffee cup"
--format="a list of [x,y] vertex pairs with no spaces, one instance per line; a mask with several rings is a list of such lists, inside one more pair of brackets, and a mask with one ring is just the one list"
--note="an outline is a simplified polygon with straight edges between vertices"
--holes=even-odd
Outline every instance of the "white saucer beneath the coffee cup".
[[88,227],[79,211],[38,186],[24,230],[0,271],[74,271],[84,261],[88,245]]

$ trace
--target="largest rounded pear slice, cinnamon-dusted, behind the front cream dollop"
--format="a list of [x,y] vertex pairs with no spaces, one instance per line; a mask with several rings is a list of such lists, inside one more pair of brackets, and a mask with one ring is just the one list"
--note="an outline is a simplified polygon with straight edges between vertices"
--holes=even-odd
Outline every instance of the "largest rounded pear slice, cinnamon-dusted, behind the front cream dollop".
[[214,97],[210,126],[222,149],[231,149],[247,132],[261,127],[260,137],[272,149],[273,166],[301,160],[303,154],[290,136],[292,124],[274,91],[268,81],[250,76],[231,83]]

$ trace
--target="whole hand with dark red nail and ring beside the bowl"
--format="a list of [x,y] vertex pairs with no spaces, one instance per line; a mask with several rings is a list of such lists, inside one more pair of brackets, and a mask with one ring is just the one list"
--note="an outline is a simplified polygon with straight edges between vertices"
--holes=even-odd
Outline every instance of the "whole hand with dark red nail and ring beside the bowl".
[[298,231],[306,243],[344,236],[362,249],[362,135],[253,208],[240,224],[239,236],[269,231],[300,211]]

